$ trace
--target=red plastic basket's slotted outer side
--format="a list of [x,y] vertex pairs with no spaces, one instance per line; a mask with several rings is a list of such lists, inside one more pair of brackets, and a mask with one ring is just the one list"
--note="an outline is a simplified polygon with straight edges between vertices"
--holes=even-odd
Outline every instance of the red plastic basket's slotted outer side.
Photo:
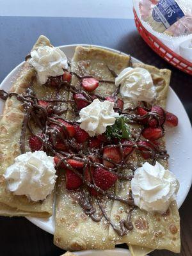
[[161,56],[164,60],[168,61],[168,63],[172,64],[174,67],[179,68],[183,72],[186,72],[192,76],[192,63],[185,60],[179,54],[173,52],[169,49],[166,45],[164,45],[161,41],[159,41],[156,36],[152,35],[143,27],[136,14],[136,11],[133,9],[134,12],[134,21],[136,24],[136,28],[140,33],[141,37],[145,42],[157,53]]

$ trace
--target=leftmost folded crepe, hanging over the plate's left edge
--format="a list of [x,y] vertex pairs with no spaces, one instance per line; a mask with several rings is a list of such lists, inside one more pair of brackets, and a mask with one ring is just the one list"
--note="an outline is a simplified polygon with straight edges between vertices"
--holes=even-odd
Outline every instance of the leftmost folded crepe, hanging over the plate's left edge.
[[[51,46],[45,36],[40,36],[33,50],[44,45]],[[38,98],[46,95],[47,88],[37,82],[35,69],[29,65],[28,59],[22,65],[10,92],[23,94],[32,84]],[[51,93],[51,90],[49,89],[48,92]],[[53,92],[54,90],[52,90]],[[19,140],[23,119],[24,109],[22,103],[15,96],[8,97],[0,120],[0,214],[1,216],[36,216],[47,218],[52,214],[53,193],[43,201],[33,202],[25,195],[17,196],[8,191],[6,189],[6,180],[3,177],[6,168],[14,163],[15,157],[21,154]],[[28,136],[26,137],[26,151],[29,151]]]

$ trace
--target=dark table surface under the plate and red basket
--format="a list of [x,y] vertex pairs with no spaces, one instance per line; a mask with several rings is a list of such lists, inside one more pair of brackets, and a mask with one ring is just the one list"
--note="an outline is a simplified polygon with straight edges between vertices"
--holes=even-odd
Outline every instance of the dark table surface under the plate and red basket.
[[[158,68],[172,70],[171,86],[192,120],[192,77],[177,70],[157,56],[141,39],[134,20],[84,19],[60,17],[0,17],[0,83],[31,50],[39,35],[55,46],[96,44],[131,54]],[[177,108],[177,106],[175,106]],[[180,256],[192,255],[191,192],[180,208],[182,250]],[[53,256],[63,250],[52,243],[52,236],[25,218],[0,218],[0,255]],[[156,251],[153,256],[175,253]]]

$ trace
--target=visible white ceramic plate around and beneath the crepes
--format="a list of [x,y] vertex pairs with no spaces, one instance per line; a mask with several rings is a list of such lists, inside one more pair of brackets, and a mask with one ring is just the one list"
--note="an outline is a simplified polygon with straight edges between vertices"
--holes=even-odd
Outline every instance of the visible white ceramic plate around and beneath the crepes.
[[[60,49],[65,52],[68,58],[72,58],[74,51],[77,45],[64,45],[60,46]],[[95,45],[97,46],[97,45]],[[100,47],[100,46],[97,46]],[[100,47],[108,49],[109,51],[118,52],[113,49],[106,47]],[[126,55],[126,54],[125,54]],[[140,62],[135,58],[132,58],[132,61]],[[14,77],[19,72],[22,63],[18,65],[15,69],[6,76],[6,78],[1,83],[1,88],[4,90],[9,90],[14,80]],[[182,84],[179,84],[182,86]],[[0,101],[0,113],[3,109],[3,100]],[[166,141],[167,149],[170,154],[170,170],[175,173],[177,179],[180,182],[180,189],[177,196],[177,204],[182,205],[186,196],[188,195],[189,188],[192,182],[192,150],[191,150],[191,141],[192,141],[192,129],[189,122],[188,115],[182,106],[179,98],[170,88],[167,100],[167,109],[168,111],[175,113],[179,118],[179,126],[176,128],[168,129],[166,132]],[[54,233],[54,214],[47,219],[44,218],[28,218],[29,221],[33,222],[36,226],[42,228],[43,230],[53,234]]]

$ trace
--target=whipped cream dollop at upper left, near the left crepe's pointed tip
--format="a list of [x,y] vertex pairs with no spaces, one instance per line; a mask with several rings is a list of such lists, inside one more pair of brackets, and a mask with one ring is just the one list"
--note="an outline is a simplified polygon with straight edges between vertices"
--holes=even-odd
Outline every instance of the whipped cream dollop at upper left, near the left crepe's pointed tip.
[[45,84],[49,76],[63,75],[63,68],[68,67],[65,53],[47,45],[31,51],[29,63],[35,68],[41,84]]

